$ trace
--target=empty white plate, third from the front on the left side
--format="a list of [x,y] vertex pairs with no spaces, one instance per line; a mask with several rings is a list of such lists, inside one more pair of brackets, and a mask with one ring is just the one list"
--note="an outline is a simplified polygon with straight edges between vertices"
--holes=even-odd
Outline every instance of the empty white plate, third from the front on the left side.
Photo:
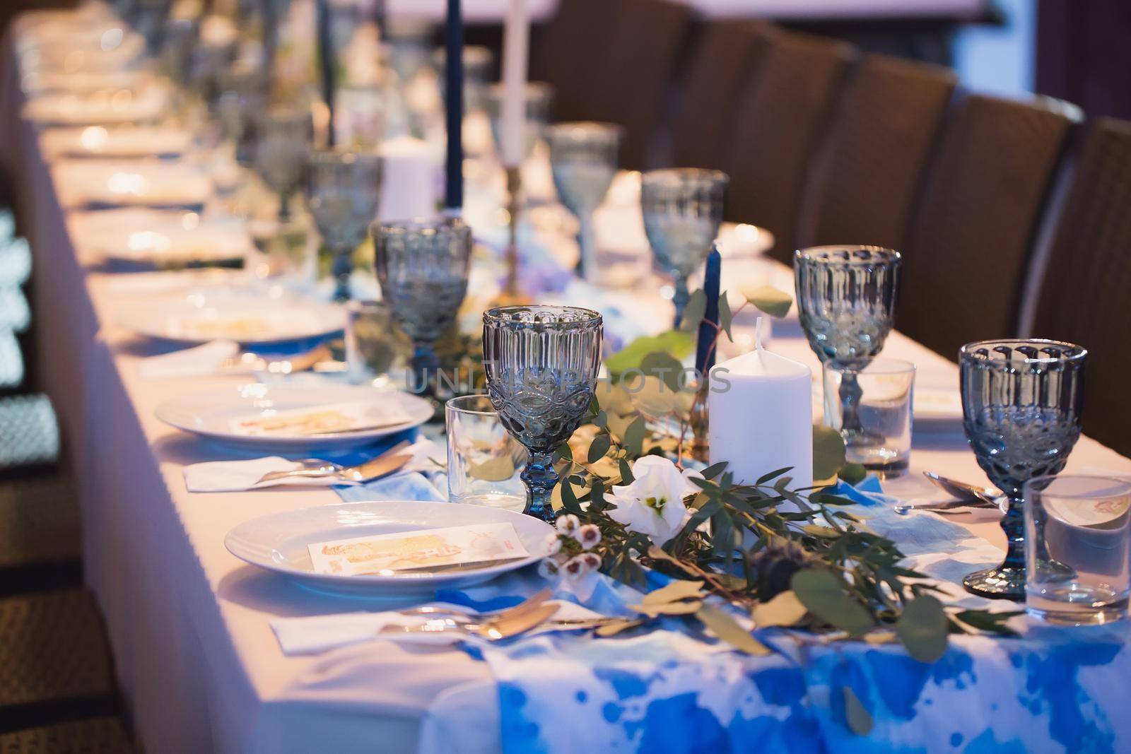
[[119,310],[118,324],[174,343],[235,340],[249,346],[293,343],[345,329],[345,310],[309,298],[197,291]]

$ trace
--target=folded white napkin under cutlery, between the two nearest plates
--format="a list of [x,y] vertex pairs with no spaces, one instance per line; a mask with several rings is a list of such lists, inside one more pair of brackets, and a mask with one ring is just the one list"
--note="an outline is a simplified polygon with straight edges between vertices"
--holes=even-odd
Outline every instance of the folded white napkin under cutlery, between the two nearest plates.
[[[435,471],[438,467],[432,460],[444,457],[446,451],[432,440],[417,440],[412,445],[400,451],[411,452],[412,459],[405,463],[397,474],[409,471]],[[191,463],[184,467],[184,486],[189,492],[242,492],[244,489],[261,489],[283,484],[301,484],[327,487],[342,484],[337,479],[273,479],[259,483],[259,479],[269,471],[293,471],[302,468],[302,463],[287,460],[279,456],[267,458],[253,458],[247,461],[207,461],[205,463]]]

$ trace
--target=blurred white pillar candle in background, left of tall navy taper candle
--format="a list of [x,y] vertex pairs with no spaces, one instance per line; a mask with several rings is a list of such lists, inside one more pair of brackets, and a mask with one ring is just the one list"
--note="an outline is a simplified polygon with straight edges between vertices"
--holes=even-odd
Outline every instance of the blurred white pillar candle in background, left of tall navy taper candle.
[[383,176],[378,218],[404,220],[434,215],[440,167],[428,142],[398,137],[382,144],[380,154]]

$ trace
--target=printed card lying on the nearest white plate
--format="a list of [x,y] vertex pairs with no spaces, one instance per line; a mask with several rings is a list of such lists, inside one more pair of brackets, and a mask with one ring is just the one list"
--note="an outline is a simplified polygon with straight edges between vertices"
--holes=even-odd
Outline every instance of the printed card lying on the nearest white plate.
[[529,555],[511,523],[335,539],[309,545],[308,549],[314,572],[334,575],[391,575],[398,571],[510,561]]

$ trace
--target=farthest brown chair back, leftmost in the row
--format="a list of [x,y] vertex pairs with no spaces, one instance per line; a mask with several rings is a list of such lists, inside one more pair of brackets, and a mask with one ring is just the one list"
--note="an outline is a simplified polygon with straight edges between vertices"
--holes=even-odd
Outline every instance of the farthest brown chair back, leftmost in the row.
[[620,123],[622,166],[649,166],[692,16],[673,0],[563,0],[532,50],[533,78],[555,88],[554,120]]

